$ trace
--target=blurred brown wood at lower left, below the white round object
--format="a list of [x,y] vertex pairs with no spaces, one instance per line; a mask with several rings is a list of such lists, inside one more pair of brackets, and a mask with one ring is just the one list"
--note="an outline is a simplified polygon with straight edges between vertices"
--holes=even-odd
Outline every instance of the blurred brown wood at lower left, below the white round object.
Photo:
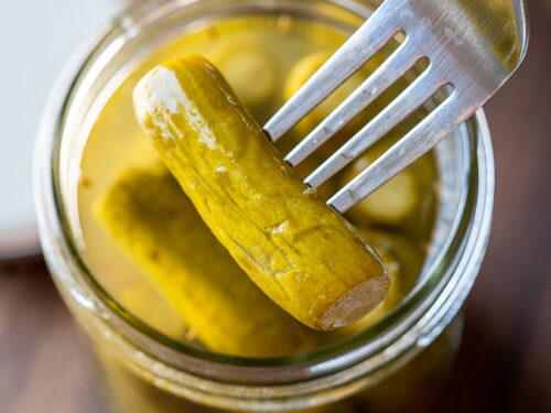
[[104,412],[74,327],[42,259],[0,264],[0,412]]

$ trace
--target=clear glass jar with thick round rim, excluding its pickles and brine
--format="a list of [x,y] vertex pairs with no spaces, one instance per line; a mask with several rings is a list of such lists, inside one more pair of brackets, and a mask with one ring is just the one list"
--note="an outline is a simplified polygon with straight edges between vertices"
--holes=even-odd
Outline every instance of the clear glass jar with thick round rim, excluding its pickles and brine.
[[[52,276],[93,343],[116,411],[413,409],[437,382],[461,336],[457,313],[488,240],[494,161],[478,111],[435,149],[442,184],[430,253],[415,289],[388,316],[329,347],[290,357],[228,357],[145,325],[105,291],[79,254],[79,162],[98,111],[161,42],[210,19],[296,15],[352,32],[376,7],[360,0],[141,1],[77,51],[54,86],[40,128],[35,198]],[[332,407],[331,403],[341,403]],[[199,407],[205,406],[205,407]],[[209,407],[206,407],[209,406]],[[324,407],[321,411],[325,411]]]

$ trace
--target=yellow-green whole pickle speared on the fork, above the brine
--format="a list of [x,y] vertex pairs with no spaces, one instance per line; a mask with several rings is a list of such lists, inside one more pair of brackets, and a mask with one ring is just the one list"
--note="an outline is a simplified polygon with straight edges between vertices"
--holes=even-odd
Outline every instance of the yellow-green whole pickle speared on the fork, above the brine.
[[283,162],[205,58],[187,54],[153,68],[133,100],[204,221],[289,314],[331,330],[383,300],[390,279],[379,257]]

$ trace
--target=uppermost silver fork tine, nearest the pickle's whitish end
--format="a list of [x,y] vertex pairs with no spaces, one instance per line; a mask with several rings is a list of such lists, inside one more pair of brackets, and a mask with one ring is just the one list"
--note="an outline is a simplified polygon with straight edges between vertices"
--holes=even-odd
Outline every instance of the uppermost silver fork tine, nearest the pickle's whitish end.
[[327,98],[399,31],[392,13],[386,12],[388,3],[382,3],[266,123],[264,131],[272,142]]

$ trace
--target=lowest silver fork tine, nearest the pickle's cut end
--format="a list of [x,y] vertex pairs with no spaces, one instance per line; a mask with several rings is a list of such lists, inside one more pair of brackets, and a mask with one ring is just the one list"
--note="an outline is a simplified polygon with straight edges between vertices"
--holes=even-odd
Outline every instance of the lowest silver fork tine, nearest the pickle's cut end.
[[453,91],[425,119],[339,189],[327,200],[327,204],[341,214],[346,213],[392,176],[429,152],[442,138],[465,121],[469,112],[456,117],[460,108],[457,94]]

